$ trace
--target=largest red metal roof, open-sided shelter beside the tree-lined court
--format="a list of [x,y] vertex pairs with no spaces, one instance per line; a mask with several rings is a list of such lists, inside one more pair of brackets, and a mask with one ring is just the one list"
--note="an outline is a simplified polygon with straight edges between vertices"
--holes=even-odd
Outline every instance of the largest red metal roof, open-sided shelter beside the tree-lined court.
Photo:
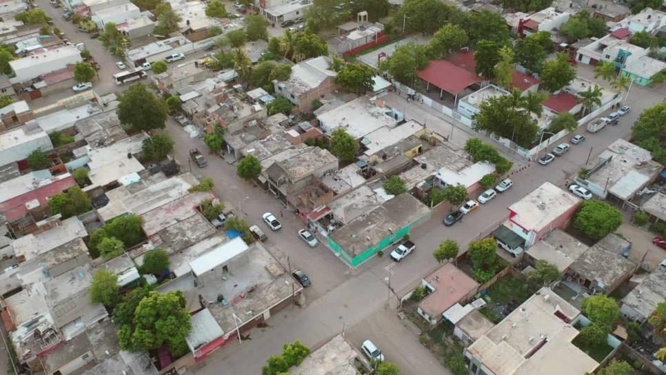
[[465,90],[472,83],[481,82],[481,77],[446,60],[430,61],[425,69],[418,72],[418,77],[453,95]]

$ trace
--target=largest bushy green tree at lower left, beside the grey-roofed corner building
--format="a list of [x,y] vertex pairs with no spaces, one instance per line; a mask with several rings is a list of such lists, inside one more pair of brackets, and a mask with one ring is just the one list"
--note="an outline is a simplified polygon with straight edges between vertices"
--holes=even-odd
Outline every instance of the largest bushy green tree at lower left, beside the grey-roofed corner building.
[[185,294],[150,292],[134,311],[132,325],[118,332],[120,347],[130,352],[144,352],[167,345],[174,358],[188,352],[185,337],[190,332],[190,313],[185,308]]

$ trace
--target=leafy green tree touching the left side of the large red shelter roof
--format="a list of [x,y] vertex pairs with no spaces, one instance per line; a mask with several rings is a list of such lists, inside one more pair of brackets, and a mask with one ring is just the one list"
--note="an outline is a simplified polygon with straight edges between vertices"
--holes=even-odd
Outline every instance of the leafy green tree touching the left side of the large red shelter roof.
[[416,71],[425,68],[428,63],[427,46],[410,42],[398,45],[393,54],[379,64],[379,69],[389,72],[396,81],[413,86],[414,79],[418,78]]

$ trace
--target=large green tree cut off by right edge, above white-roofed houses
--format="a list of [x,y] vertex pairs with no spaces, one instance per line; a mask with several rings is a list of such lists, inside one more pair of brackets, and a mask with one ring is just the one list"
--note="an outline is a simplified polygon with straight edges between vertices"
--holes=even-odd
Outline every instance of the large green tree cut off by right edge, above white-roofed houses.
[[632,142],[652,152],[652,159],[666,164],[666,103],[646,108],[632,126]]

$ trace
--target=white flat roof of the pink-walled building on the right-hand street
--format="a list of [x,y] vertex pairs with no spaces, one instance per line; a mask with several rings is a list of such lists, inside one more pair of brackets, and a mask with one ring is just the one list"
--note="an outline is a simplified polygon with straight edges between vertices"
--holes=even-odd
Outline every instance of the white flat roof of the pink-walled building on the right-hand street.
[[579,203],[581,199],[573,194],[545,182],[509,206],[509,220],[525,230],[538,231]]

